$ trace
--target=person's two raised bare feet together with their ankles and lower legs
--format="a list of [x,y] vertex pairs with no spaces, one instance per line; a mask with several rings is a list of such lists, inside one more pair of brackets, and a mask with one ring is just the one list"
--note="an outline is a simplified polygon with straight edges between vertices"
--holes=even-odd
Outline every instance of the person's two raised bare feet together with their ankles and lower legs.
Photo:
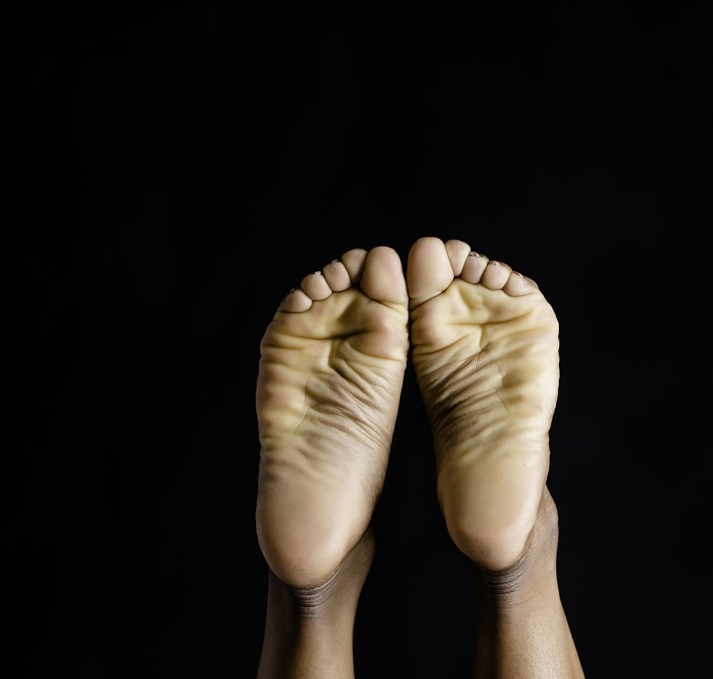
[[460,240],[417,240],[405,276],[390,247],[349,250],[289,292],[260,348],[256,519],[270,586],[258,676],[354,676],[371,515],[410,358],[438,502],[473,565],[476,677],[582,677],[545,486],[558,320],[535,282]]

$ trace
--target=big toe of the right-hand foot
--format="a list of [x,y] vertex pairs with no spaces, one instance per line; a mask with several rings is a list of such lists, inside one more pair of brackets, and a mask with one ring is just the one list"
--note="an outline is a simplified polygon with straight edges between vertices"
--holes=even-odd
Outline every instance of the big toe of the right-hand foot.
[[426,236],[411,245],[406,265],[406,285],[411,302],[419,305],[439,295],[453,282],[453,267],[440,238]]

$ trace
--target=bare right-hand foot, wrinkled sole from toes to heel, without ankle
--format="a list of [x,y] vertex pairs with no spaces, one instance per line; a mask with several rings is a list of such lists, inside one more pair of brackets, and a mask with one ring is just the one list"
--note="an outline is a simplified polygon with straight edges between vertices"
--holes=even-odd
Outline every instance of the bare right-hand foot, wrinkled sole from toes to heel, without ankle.
[[456,546],[498,571],[523,553],[543,501],[558,320],[534,281],[460,240],[416,241],[406,279],[438,501]]

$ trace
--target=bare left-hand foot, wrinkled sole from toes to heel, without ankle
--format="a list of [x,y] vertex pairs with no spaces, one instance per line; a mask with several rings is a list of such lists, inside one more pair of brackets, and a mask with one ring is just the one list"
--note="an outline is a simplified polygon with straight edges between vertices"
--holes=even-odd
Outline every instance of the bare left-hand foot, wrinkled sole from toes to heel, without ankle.
[[408,302],[395,250],[349,250],[304,277],[262,338],[257,536],[289,586],[329,580],[369,526],[406,369]]

